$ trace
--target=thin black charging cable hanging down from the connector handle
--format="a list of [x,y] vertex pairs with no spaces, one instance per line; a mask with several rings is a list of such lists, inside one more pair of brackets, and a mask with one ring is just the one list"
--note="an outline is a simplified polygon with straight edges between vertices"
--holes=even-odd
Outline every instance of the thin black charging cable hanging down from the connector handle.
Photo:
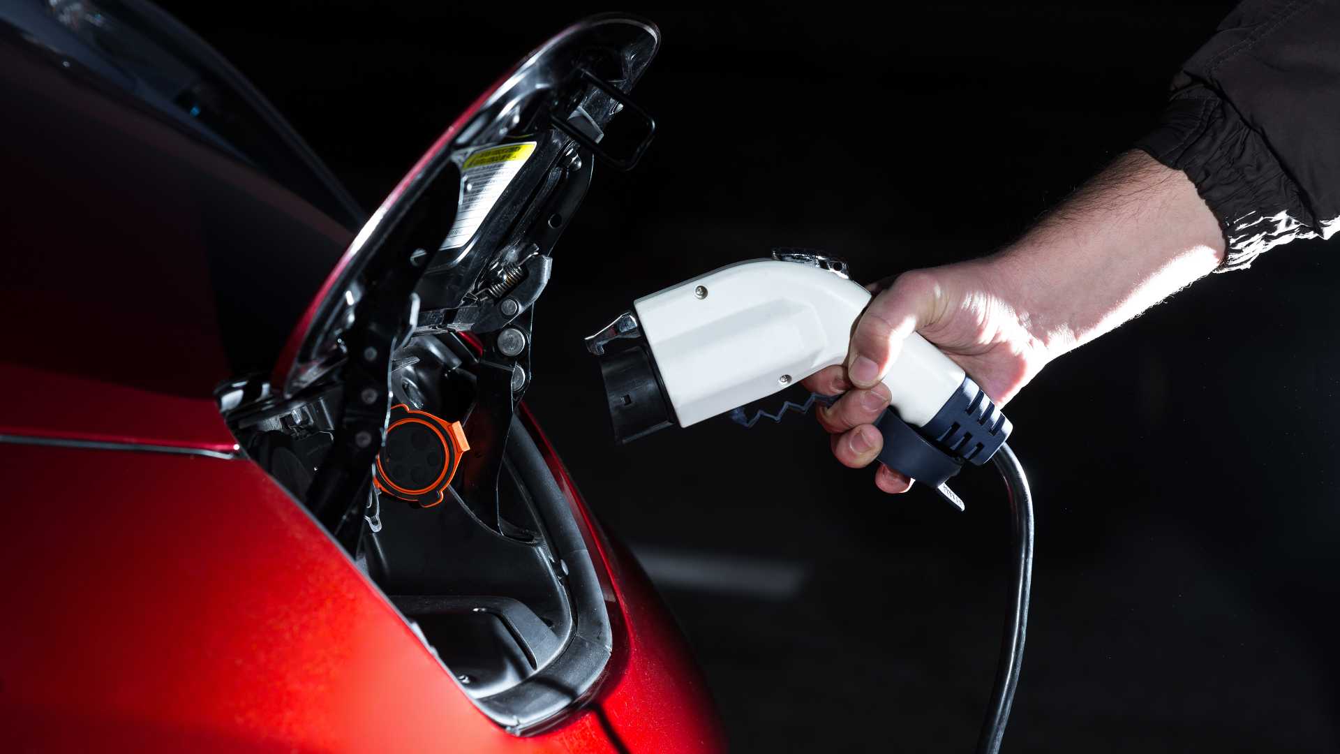
[[1024,664],[1024,635],[1028,631],[1028,593],[1033,581],[1033,494],[1028,490],[1028,476],[1018,456],[1009,444],[1002,444],[992,457],[996,470],[1009,491],[1010,549],[1014,551],[1014,570],[1010,574],[1010,606],[1005,618],[1001,656],[996,665],[996,686],[992,702],[977,737],[977,754],[996,754],[1005,737],[1009,708],[1014,703],[1020,665]]

